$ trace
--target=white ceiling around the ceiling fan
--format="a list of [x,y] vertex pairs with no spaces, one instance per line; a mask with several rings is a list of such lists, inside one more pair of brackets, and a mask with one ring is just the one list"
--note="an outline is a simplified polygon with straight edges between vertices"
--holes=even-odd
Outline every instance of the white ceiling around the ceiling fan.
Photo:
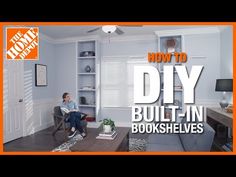
[[[87,33],[88,30],[97,28],[100,26],[40,26],[40,32],[51,37],[53,39],[63,39],[70,37],[81,37],[90,35],[99,35],[101,37],[118,36],[116,33],[106,34],[101,29],[92,33]],[[119,27],[125,33],[120,36],[130,36],[130,35],[150,35],[154,34],[158,30],[174,30],[174,29],[184,29],[184,28],[202,28],[202,27],[212,27],[212,26],[158,26],[158,25],[144,25],[142,27]],[[219,30],[225,28],[225,26],[217,26]]]

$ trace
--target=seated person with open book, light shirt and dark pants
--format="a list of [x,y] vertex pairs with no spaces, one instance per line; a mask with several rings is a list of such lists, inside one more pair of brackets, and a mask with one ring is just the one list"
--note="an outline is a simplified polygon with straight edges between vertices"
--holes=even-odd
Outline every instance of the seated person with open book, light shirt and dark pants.
[[[64,114],[68,113],[69,118],[67,119],[68,122],[70,122],[70,133],[68,135],[68,138],[72,138],[75,136],[77,131],[81,134],[82,137],[85,137],[86,134],[81,126],[81,113],[78,110],[77,104],[71,100],[70,94],[65,92],[62,95],[63,102],[61,104],[61,111]],[[69,110],[69,111],[65,111]]]

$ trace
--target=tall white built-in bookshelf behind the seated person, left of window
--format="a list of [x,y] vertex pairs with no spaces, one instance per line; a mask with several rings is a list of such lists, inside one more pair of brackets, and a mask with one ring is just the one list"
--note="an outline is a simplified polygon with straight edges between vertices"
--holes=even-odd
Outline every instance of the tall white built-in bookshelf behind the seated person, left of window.
[[99,53],[96,40],[77,41],[77,101],[89,122],[99,121]]

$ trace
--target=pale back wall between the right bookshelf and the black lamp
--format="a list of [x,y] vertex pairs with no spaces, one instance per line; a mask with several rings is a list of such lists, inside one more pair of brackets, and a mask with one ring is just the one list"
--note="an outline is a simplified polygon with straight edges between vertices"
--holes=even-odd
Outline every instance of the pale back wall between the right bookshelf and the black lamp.
[[186,65],[189,70],[192,65],[204,66],[195,88],[195,101],[218,99],[215,81],[220,77],[220,34],[186,35],[185,48],[188,55]]

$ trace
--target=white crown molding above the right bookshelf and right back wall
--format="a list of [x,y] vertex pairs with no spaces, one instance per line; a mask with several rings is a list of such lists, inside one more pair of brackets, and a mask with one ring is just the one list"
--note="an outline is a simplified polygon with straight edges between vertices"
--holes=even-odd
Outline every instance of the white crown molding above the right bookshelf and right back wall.
[[211,34],[219,32],[220,30],[217,27],[203,27],[203,28],[161,30],[161,31],[155,31],[155,34],[158,37],[162,37],[162,36],[173,36],[173,35]]

